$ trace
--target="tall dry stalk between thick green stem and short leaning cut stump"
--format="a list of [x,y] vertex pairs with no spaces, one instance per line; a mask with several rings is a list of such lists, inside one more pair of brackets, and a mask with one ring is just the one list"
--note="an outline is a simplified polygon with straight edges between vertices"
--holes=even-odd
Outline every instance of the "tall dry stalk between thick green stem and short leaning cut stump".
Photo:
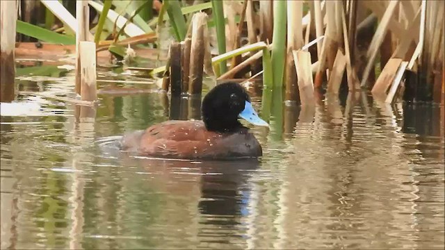
[[302,35],[302,1],[287,1],[287,52],[286,52],[286,100],[298,99],[298,83],[293,50],[305,44]]

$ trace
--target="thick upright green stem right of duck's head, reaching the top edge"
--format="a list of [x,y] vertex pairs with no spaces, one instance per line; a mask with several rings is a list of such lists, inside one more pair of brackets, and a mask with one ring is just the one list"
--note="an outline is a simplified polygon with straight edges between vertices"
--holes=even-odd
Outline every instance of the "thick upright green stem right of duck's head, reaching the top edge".
[[286,59],[286,1],[273,2],[272,67],[273,86],[282,87]]

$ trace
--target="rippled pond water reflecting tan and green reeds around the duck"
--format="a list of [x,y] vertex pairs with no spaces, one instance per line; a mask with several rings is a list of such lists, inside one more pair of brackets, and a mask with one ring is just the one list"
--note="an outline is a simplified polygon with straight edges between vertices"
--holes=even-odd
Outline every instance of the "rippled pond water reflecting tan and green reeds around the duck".
[[[72,81],[17,85],[66,94]],[[42,110],[1,117],[2,249],[444,249],[440,107],[361,92],[285,106],[284,118],[273,106],[270,128],[252,128],[262,158],[202,162],[108,147],[199,105],[155,91],[99,97],[94,111],[23,94]]]

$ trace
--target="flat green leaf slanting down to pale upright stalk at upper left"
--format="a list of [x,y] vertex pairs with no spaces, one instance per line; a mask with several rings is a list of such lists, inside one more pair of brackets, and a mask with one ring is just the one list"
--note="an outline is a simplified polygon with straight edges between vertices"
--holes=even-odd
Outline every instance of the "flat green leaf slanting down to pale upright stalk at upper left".
[[17,33],[28,35],[31,38],[36,38],[38,40],[42,40],[43,42],[65,45],[76,44],[75,37],[49,31],[46,28],[41,28],[20,20],[17,20]]

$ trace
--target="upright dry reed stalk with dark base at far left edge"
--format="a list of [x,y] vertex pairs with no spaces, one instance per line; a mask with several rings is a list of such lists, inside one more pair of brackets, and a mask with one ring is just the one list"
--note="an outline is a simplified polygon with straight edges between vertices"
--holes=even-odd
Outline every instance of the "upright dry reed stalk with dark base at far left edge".
[[0,102],[15,98],[15,35],[18,1],[0,1]]

